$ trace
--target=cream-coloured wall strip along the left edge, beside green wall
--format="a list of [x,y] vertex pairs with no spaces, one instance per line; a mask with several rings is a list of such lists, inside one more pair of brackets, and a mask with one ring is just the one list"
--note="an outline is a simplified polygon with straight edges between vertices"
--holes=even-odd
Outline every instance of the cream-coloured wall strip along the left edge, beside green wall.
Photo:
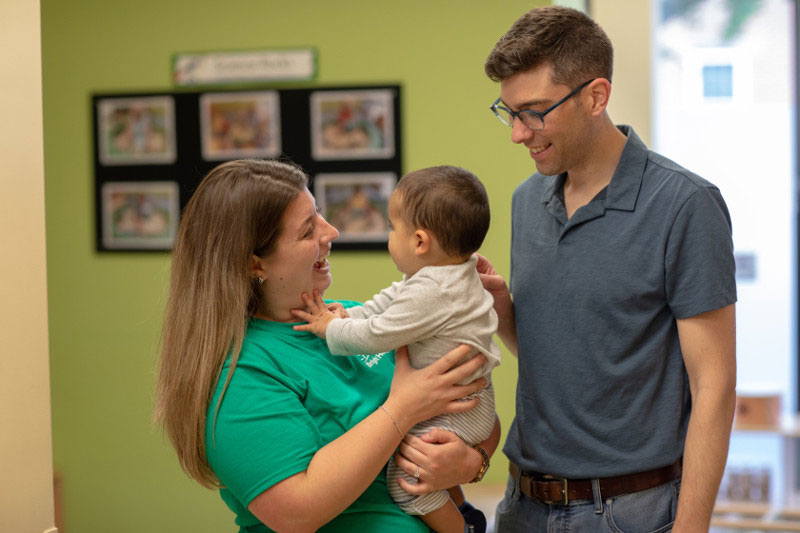
[[0,2],[0,531],[55,531],[37,0]]

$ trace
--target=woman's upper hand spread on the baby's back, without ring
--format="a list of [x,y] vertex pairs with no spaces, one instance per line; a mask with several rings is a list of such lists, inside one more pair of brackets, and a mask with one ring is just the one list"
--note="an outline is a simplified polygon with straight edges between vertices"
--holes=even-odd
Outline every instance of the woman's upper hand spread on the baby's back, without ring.
[[477,398],[466,401],[460,398],[485,387],[486,380],[480,378],[467,385],[456,384],[486,362],[486,356],[478,354],[459,364],[472,350],[471,346],[462,344],[420,370],[411,368],[405,346],[395,351],[392,388],[384,405],[403,432],[442,413],[460,413],[475,407]]

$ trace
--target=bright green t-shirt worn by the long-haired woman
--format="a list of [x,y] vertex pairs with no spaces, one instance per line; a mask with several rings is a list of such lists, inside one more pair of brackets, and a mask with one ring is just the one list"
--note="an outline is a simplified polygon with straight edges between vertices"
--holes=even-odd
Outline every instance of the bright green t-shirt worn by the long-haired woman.
[[[209,406],[206,456],[240,531],[270,531],[247,505],[304,471],[317,450],[366,418],[389,394],[393,353],[334,356],[323,339],[292,325],[251,319],[213,435],[214,409],[230,359]],[[359,530],[428,531],[389,497],[385,471],[319,531]]]

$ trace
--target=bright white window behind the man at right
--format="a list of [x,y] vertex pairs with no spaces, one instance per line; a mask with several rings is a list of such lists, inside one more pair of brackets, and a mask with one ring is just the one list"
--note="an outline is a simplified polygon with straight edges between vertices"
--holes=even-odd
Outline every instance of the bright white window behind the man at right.
[[[737,263],[738,392],[777,394],[788,415],[798,394],[795,2],[652,7],[653,149],[722,191]],[[785,457],[774,435],[734,433],[729,474],[769,472],[779,502],[800,494]]]

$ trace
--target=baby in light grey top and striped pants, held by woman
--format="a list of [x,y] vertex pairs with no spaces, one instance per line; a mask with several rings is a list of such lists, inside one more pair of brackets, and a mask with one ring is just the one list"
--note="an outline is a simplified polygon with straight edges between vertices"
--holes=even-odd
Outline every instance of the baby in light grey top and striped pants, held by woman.
[[[473,257],[489,229],[486,190],[474,174],[458,167],[411,172],[398,182],[389,199],[389,223],[389,254],[404,274],[403,280],[346,312],[326,309],[322,302],[312,306],[316,314],[295,310],[296,316],[308,321],[295,329],[326,339],[334,355],[373,354],[408,345],[414,368],[431,364],[460,344],[474,348],[468,358],[479,352],[485,354],[486,364],[463,380],[469,383],[486,378],[488,385],[475,394],[477,406],[463,413],[437,416],[410,431],[419,436],[440,427],[477,447],[494,427],[490,372],[500,363],[500,350],[492,340],[497,315]],[[310,303],[308,295],[304,300]],[[448,491],[422,496],[405,492],[397,477],[411,483],[416,479],[394,461],[390,461],[387,475],[389,493],[405,512],[422,515],[435,531],[465,530]],[[460,494],[458,488],[451,490],[454,495]]]

